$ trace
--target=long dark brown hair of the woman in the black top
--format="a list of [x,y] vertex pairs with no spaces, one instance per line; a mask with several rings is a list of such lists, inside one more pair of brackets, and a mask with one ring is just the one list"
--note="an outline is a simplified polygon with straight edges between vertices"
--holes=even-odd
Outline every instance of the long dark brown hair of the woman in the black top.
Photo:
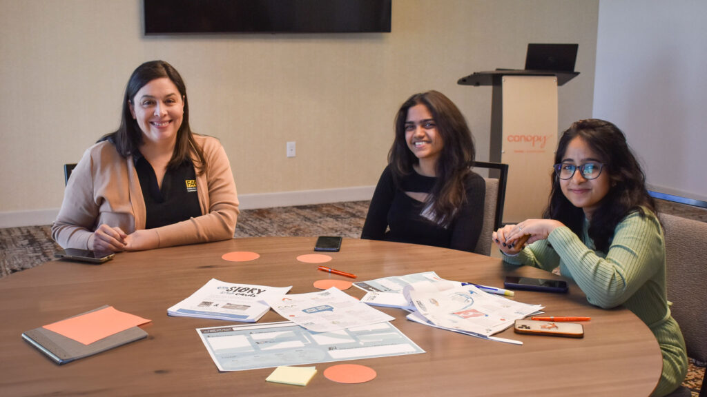
[[442,152],[436,165],[437,182],[427,198],[431,206],[434,221],[448,226],[457,209],[467,200],[464,180],[474,165],[474,140],[462,112],[448,97],[437,91],[427,91],[412,95],[406,100],[395,117],[395,140],[393,141],[388,162],[396,184],[407,174],[413,172],[412,166],[419,159],[410,151],[405,141],[405,121],[407,112],[415,105],[425,105],[432,114],[437,132],[443,141]]

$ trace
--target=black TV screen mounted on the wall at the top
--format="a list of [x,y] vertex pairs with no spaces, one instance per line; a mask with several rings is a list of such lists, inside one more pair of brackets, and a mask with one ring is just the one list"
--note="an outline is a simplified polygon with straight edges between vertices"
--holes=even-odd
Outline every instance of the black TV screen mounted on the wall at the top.
[[390,32],[392,0],[143,0],[145,34]]

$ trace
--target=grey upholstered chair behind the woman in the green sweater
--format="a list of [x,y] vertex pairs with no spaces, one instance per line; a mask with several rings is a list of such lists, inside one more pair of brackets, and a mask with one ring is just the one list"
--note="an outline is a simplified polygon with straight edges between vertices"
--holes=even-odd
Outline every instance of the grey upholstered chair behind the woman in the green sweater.
[[[662,214],[670,312],[682,329],[687,355],[707,361],[707,223]],[[707,397],[707,372],[699,397]],[[684,386],[668,396],[691,396]]]

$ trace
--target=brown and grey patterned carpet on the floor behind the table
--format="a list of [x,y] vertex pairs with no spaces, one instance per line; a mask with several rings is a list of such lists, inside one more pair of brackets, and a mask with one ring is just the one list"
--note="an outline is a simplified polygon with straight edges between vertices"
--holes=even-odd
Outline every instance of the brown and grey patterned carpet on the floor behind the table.
[[[707,222],[707,209],[659,201],[660,211]],[[368,201],[312,206],[243,210],[235,237],[337,235],[358,238],[368,212]],[[0,229],[0,278],[51,261],[59,246],[52,241],[51,227],[29,226]],[[697,397],[704,365],[691,361],[683,385]]]

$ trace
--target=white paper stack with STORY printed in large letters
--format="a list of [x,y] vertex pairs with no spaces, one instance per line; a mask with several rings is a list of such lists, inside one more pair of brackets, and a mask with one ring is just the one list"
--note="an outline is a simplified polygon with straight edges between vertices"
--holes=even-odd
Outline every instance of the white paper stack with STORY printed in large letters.
[[225,283],[212,278],[187,299],[167,309],[167,314],[252,323],[270,309],[265,300],[279,299],[291,288]]

